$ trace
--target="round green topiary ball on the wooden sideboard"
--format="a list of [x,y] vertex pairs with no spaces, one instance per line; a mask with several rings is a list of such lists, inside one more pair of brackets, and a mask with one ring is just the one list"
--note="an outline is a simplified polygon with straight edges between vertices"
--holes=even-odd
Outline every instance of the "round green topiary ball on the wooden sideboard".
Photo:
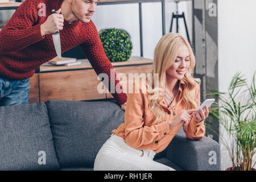
[[111,62],[126,61],[130,58],[133,44],[125,30],[107,28],[99,34],[106,56]]

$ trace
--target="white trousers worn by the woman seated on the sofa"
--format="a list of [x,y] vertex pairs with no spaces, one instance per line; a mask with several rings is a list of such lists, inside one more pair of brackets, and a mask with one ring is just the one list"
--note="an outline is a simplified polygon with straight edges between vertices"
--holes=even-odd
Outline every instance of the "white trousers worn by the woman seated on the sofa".
[[94,161],[94,171],[175,171],[155,162],[153,150],[130,147],[115,134],[103,144]]

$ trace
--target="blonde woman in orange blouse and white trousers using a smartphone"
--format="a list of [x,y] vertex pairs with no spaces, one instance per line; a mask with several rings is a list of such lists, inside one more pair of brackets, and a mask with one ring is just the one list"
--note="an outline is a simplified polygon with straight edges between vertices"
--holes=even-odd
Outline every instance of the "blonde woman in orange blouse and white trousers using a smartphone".
[[193,77],[194,67],[195,56],[183,36],[169,33],[160,39],[151,71],[157,77],[134,84],[139,93],[128,94],[125,123],[101,147],[94,170],[174,170],[154,162],[155,154],[181,126],[187,138],[203,138],[209,113],[208,107],[197,111],[200,79]]

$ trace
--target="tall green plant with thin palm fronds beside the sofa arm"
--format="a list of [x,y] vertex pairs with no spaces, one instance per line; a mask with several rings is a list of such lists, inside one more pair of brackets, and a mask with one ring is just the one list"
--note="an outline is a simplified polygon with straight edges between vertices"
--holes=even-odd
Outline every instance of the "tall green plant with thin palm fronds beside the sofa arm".
[[[227,171],[251,171],[255,169],[253,156],[256,151],[256,105],[255,73],[251,85],[241,73],[234,75],[227,93],[210,89],[207,95],[215,95],[219,103],[214,103],[209,114],[217,118],[226,135],[210,129],[222,140],[232,167]],[[207,121],[208,122],[208,121]],[[210,123],[210,122],[208,122]],[[211,124],[211,123],[210,123]]]

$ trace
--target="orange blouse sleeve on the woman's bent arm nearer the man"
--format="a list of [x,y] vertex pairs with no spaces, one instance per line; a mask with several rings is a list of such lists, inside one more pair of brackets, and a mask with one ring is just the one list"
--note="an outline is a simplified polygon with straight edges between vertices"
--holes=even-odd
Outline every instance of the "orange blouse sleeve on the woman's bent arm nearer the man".
[[130,147],[139,148],[160,140],[165,134],[170,133],[168,121],[157,125],[144,126],[144,101],[147,94],[129,93],[125,110],[125,141]]

